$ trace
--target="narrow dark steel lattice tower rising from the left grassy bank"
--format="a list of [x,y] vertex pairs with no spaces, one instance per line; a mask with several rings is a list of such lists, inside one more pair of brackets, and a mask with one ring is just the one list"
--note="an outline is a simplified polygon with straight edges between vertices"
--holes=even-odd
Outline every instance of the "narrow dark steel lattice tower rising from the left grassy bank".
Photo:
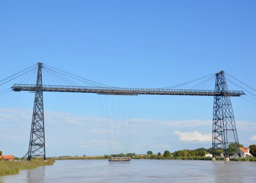
[[42,90],[42,63],[38,63],[37,84],[35,88],[35,102],[31,124],[28,158],[32,156],[45,156],[45,128],[44,128],[44,107]]

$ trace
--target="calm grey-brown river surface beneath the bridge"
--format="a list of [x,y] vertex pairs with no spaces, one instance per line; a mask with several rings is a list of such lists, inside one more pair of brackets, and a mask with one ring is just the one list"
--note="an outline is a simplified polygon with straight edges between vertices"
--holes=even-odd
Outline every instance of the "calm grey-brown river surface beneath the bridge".
[[204,160],[56,160],[54,165],[0,177],[4,183],[44,182],[256,182],[256,162]]

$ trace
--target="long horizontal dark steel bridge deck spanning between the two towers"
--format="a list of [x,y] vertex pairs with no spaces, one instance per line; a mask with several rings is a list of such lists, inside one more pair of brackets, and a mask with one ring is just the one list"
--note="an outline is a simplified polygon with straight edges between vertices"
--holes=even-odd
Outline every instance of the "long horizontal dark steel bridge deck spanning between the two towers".
[[[36,85],[15,84],[13,91],[35,91]],[[87,87],[87,86],[58,86],[43,85],[43,91],[51,92],[80,92],[97,93],[108,95],[198,95],[198,96],[222,96],[228,93],[228,96],[238,97],[244,95],[243,91],[215,91],[215,90],[179,90],[179,89],[149,89],[149,88],[115,88],[115,87]]]

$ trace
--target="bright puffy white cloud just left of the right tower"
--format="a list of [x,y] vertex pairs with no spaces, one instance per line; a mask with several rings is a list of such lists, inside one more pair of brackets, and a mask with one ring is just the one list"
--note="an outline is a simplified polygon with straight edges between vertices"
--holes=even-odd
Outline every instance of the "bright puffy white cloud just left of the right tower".
[[201,133],[194,131],[194,132],[178,132],[175,131],[174,135],[179,136],[180,141],[185,142],[206,142],[212,140],[212,134],[202,135]]

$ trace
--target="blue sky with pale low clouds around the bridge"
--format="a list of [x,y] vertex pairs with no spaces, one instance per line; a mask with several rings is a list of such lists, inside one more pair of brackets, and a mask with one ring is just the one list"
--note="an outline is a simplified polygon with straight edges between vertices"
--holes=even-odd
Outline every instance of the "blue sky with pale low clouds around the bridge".
[[[256,88],[255,5],[1,1],[0,80],[42,62],[117,87],[161,88],[224,70]],[[255,105],[231,101],[239,142],[255,144]],[[33,102],[28,92],[0,96],[3,154],[27,152]],[[46,156],[108,154],[99,103],[96,94],[45,92]],[[212,111],[213,97],[138,96],[130,151],[211,147]]]

